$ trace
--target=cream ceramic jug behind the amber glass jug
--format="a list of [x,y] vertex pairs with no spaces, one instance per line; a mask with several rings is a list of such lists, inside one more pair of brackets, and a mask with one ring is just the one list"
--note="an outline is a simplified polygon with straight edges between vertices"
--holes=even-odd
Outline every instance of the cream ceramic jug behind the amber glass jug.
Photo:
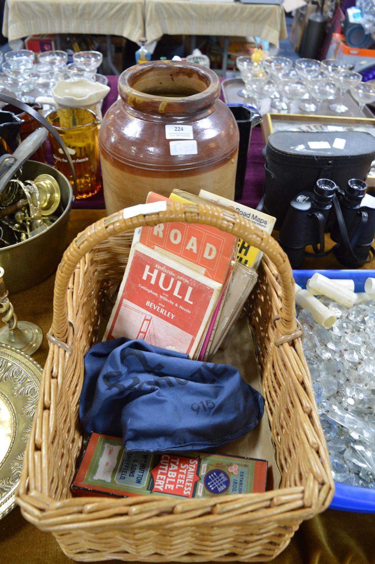
[[100,102],[107,96],[109,86],[100,82],[90,82],[87,78],[78,80],[60,80],[52,88],[52,98],[38,96],[36,102],[49,104],[56,109],[59,108],[87,108],[98,116],[102,121]]

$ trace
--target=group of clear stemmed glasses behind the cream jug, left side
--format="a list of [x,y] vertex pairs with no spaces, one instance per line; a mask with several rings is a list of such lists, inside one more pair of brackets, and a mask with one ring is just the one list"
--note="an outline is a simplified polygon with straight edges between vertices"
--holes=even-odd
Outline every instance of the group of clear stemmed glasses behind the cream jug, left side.
[[63,78],[78,80],[87,78],[91,82],[105,82],[105,77],[96,74],[102,64],[103,55],[99,51],[80,51],[73,54],[73,63],[67,64],[65,51],[45,51],[34,53],[28,49],[10,51],[5,61],[0,52],[0,90],[14,92],[21,102],[32,103],[30,95],[34,90],[39,94],[51,96],[51,90]]

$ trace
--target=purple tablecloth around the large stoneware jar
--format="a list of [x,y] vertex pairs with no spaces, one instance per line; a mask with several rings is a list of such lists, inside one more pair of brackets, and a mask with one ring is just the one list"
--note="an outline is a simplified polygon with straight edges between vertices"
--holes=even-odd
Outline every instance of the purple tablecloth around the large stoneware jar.
[[[118,76],[108,76],[108,86],[111,91],[104,98],[102,113],[103,116],[107,109],[117,100],[117,81]],[[220,94],[220,100],[223,100]],[[244,182],[244,191],[242,199],[238,200],[241,204],[255,208],[261,197],[263,196],[263,181],[264,181],[264,160],[261,155],[263,149],[263,138],[261,127],[254,127],[252,131],[252,138],[250,140],[250,149],[248,156],[248,166],[246,168],[246,176]],[[76,200],[73,203],[73,208],[76,209],[104,209],[104,196],[103,189],[100,190],[95,196],[83,200]]]

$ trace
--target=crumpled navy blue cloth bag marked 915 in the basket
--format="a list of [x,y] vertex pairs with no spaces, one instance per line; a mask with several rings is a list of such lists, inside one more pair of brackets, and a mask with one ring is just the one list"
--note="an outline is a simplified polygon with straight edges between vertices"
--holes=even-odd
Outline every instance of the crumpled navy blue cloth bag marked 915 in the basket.
[[263,398],[226,364],[127,338],[85,356],[80,418],[89,433],[123,437],[127,451],[210,450],[258,425]]

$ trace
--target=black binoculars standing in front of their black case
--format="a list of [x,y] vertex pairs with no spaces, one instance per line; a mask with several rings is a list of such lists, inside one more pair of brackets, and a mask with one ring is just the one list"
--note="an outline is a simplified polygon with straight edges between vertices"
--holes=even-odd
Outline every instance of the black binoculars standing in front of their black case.
[[[300,192],[290,202],[279,243],[292,268],[300,268],[305,256],[324,257],[330,252],[347,268],[358,268],[374,258],[375,197],[367,184],[352,178],[344,191],[333,180],[317,180],[313,192]],[[324,252],[324,233],[336,245]],[[307,253],[312,245],[314,253]],[[372,257],[369,259],[369,254]]]

